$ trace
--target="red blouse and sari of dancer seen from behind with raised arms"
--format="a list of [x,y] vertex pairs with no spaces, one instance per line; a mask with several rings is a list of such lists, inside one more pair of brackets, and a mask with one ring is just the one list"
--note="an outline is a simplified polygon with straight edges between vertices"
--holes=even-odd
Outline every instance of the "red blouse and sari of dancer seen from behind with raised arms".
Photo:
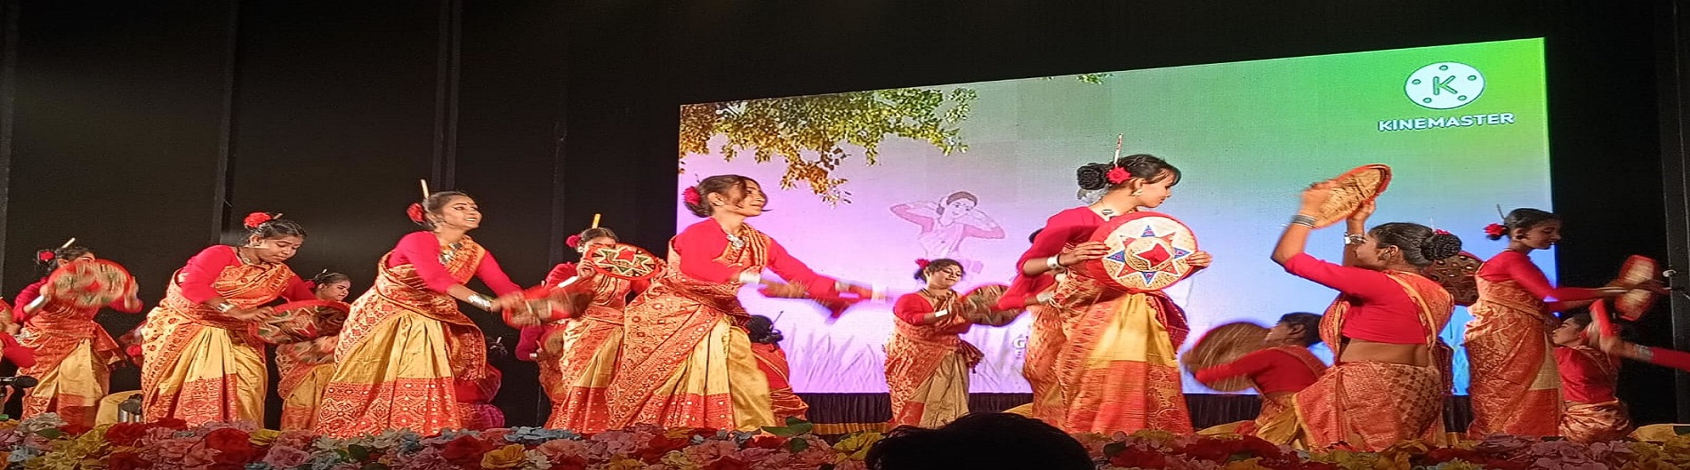
[[[1450,392],[1436,353],[1443,347],[1436,331],[1455,311],[1450,292],[1416,272],[1345,267],[1308,254],[1286,260],[1284,271],[1340,292],[1320,320],[1320,340],[1332,345],[1337,363],[1293,397],[1305,441],[1379,451],[1435,434]],[[1428,365],[1344,360],[1349,338],[1425,345]]]

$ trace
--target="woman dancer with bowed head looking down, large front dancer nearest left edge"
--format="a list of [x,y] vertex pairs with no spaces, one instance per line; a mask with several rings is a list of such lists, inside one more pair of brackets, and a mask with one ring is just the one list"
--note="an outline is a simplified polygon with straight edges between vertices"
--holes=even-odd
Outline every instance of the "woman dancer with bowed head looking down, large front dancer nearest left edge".
[[140,391],[147,419],[260,421],[269,370],[264,342],[248,331],[264,304],[311,299],[284,264],[306,230],[265,213],[245,220],[247,243],[201,250],[171,276],[164,299],[142,325]]

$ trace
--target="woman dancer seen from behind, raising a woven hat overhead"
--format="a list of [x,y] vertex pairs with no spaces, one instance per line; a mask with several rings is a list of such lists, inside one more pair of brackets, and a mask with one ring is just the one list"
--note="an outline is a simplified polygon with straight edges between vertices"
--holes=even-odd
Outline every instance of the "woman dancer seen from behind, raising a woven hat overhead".
[[[1420,267],[1460,254],[1462,240],[1393,221],[1347,237],[1344,265],[1310,257],[1303,245],[1315,227],[1311,213],[1332,186],[1323,181],[1303,191],[1303,208],[1273,252],[1286,272],[1338,291],[1320,321],[1333,365],[1296,394],[1296,414],[1310,446],[1349,443],[1377,451],[1426,436],[1443,413],[1448,377],[1436,357],[1438,330],[1450,321],[1455,299],[1420,276]],[[1362,232],[1369,215],[1372,203],[1350,216],[1350,232]]]

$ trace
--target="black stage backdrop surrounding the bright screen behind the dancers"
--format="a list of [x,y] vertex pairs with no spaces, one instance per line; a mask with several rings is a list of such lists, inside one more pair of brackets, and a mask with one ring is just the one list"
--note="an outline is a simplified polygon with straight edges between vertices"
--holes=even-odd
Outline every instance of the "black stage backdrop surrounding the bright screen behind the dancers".
[[[155,301],[257,210],[311,230],[297,272],[362,289],[412,230],[417,178],[475,194],[477,240],[536,282],[593,213],[646,247],[674,233],[681,103],[1518,37],[1546,37],[1562,279],[1606,282],[1629,254],[1690,265],[1668,250],[1682,203],[1663,198],[1682,186],[1663,176],[1663,154],[1682,169],[1678,108],[1658,105],[1676,100],[1676,2],[0,3],[7,294],[39,276],[35,249],[78,237]],[[1665,311],[1646,340],[1673,340]],[[510,424],[532,424],[534,369],[497,365]],[[1624,380],[1639,421],[1673,419],[1671,374]]]

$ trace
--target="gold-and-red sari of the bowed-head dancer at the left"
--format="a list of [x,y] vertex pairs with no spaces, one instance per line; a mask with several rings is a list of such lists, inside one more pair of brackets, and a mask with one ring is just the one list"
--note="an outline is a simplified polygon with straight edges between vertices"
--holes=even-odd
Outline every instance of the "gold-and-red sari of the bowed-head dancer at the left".
[[[264,421],[269,370],[264,342],[248,321],[183,296],[181,272],[172,276],[164,299],[147,313],[140,369],[147,419],[177,418],[196,426],[210,421]],[[211,282],[223,299],[242,309],[260,308],[282,294],[294,279],[284,264],[228,265]]]

